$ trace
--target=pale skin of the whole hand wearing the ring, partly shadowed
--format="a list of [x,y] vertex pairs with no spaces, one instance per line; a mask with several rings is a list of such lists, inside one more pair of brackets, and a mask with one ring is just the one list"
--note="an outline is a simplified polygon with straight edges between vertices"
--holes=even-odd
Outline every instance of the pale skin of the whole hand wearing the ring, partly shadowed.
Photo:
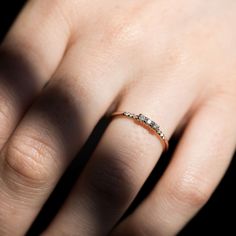
[[[117,222],[162,145],[115,118],[43,235],[175,235],[236,144],[234,0],[31,0],[0,52],[0,235],[23,235],[99,119],[184,132],[153,191]],[[116,225],[116,226],[115,226]]]

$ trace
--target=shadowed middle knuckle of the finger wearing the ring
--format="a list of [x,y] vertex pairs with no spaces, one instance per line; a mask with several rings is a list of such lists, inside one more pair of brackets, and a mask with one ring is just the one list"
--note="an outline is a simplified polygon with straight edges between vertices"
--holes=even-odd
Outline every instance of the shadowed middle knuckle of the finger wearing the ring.
[[106,202],[119,209],[124,207],[135,193],[132,172],[121,159],[98,158],[91,168],[87,186],[92,194],[96,193],[96,201]]

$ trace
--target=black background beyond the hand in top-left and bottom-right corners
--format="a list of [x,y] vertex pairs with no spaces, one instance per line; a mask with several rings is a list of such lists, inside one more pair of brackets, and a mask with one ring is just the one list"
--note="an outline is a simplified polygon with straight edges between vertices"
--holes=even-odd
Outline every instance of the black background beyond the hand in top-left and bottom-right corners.
[[[24,0],[0,2],[0,40],[4,38],[24,2]],[[172,146],[175,142],[176,140],[172,140]],[[236,155],[212,198],[179,235],[236,235],[235,157]],[[166,163],[163,162],[159,168],[164,168],[165,165]],[[145,192],[145,188],[143,191]],[[43,221],[39,221],[30,234],[37,235],[37,230],[40,230],[43,224]]]

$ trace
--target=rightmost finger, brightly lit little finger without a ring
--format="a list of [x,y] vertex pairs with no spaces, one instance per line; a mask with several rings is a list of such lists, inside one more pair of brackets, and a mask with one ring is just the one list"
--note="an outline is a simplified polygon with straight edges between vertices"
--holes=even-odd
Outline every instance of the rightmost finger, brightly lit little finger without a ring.
[[160,182],[112,235],[176,235],[208,201],[231,161],[236,144],[233,114],[232,99],[203,105]]

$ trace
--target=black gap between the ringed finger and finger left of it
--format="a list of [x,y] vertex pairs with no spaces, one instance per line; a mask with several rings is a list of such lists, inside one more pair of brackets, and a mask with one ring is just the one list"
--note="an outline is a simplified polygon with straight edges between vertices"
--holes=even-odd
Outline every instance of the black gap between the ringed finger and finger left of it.
[[[74,115],[74,118],[75,117],[76,115]],[[78,117],[75,119],[77,120]],[[77,122],[77,124],[78,123],[81,122]],[[109,120],[106,117],[103,117],[97,124],[83,148],[76,155],[75,159],[72,161],[67,171],[62,176],[53,193],[42,208],[42,211],[38,215],[30,230],[28,231],[27,235],[40,234],[47,228],[47,226],[53,220],[57,212],[60,210],[61,205],[69,195],[78,177],[80,176],[86,163],[88,162],[108,123]],[[81,130],[81,127],[77,127],[77,130],[79,132],[79,130]]]

